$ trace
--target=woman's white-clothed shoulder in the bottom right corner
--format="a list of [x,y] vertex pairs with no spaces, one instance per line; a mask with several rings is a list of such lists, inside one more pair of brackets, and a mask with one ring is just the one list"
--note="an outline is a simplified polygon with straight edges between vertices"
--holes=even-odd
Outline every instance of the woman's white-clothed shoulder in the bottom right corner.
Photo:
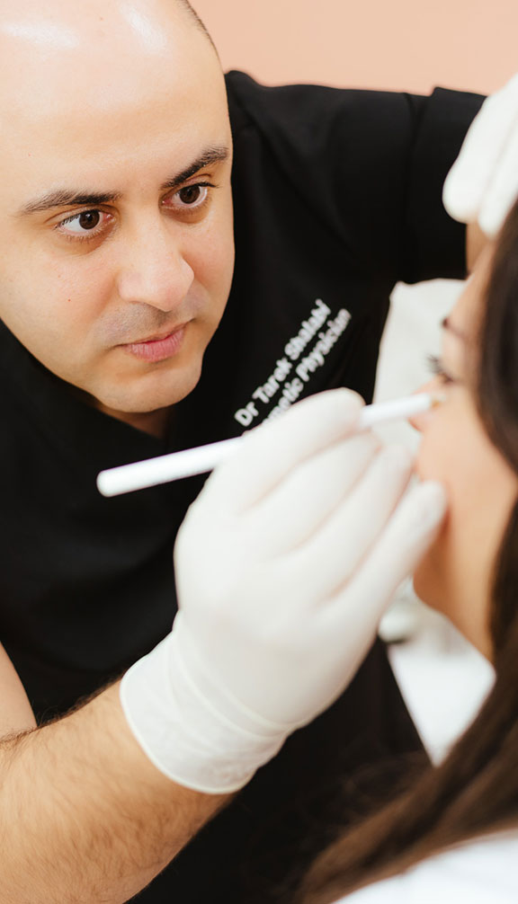
[[515,904],[518,832],[489,835],[344,898],[344,904]]

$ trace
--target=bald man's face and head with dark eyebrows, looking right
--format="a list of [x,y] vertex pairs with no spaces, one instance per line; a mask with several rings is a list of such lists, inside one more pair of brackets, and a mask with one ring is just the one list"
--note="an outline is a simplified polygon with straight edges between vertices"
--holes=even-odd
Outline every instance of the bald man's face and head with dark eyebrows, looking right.
[[0,0],[0,317],[104,410],[165,408],[198,381],[231,287],[216,54],[170,4],[99,0],[79,23],[61,4],[44,22],[11,6]]

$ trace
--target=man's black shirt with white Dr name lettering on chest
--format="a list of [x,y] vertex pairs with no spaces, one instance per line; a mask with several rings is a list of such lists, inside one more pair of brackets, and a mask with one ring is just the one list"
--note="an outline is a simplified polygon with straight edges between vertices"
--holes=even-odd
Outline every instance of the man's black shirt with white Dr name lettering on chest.
[[[270,89],[238,72],[227,85],[235,276],[166,441],[89,408],[0,325],[0,638],[40,720],[116,677],[174,618],[174,536],[202,478],[104,499],[99,470],[237,436],[324,389],[371,400],[394,284],[465,275],[465,231],[441,188],[480,97]],[[418,747],[377,646],[141,899],[286,901],[288,886],[269,885],[325,840],[337,782]]]

